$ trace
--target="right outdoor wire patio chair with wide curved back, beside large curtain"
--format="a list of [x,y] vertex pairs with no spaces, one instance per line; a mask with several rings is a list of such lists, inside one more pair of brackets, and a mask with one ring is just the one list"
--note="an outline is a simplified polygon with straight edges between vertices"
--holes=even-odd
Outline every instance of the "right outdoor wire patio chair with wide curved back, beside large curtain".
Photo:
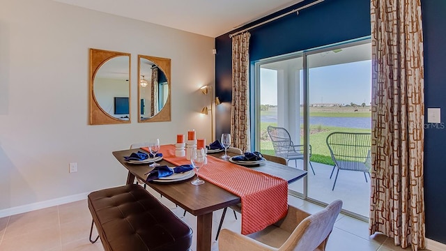
[[369,132],[332,132],[327,136],[327,146],[334,161],[332,169],[337,167],[336,178],[334,178],[333,188],[336,185],[339,170],[364,172],[365,182],[371,167],[370,158],[370,137]]

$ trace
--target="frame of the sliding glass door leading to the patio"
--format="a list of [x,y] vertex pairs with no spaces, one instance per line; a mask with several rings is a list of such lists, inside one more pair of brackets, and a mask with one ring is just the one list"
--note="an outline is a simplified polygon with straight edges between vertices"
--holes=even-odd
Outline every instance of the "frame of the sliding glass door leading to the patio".
[[[303,50],[300,52],[292,52],[289,54],[279,55],[279,56],[272,56],[267,59],[260,59],[258,61],[254,61],[251,63],[251,68],[254,69],[252,72],[254,72],[253,77],[251,78],[251,84],[250,85],[250,93],[254,93],[254,95],[251,96],[250,103],[252,104],[250,107],[250,119],[251,121],[254,121],[254,123],[251,123],[250,129],[251,129],[251,144],[252,149],[255,151],[260,151],[260,109],[256,109],[257,107],[260,107],[260,68],[261,65],[266,63],[274,63],[277,61],[284,61],[287,59],[294,59],[298,57],[302,57],[302,69],[303,69],[303,75],[302,75],[302,93],[303,93],[303,144],[304,144],[304,162],[303,162],[303,169],[308,172],[308,166],[309,166],[309,82],[308,82],[308,75],[309,75],[309,68],[307,67],[307,56],[312,54],[318,54],[321,52],[328,52],[332,50],[339,50],[344,47],[351,47],[355,45],[363,45],[371,43],[371,36],[365,36],[362,38],[356,38],[353,40],[346,40],[341,43],[334,43],[331,45],[324,45],[321,47],[312,48],[309,50]],[[311,197],[308,197],[308,178],[307,176],[304,177],[303,180],[303,193],[297,192],[293,190],[289,190],[289,194],[293,195],[295,197],[300,197],[301,199],[304,199],[306,201],[310,201],[314,204],[318,204],[320,206],[327,206],[328,203],[320,201],[318,199],[313,199]],[[364,217],[363,215],[353,213],[351,211],[347,211],[342,209],[341,213],[345,213],[346,215],[349,215],[353,218],[357,218],[359,220],[364,220],[366,222],[369,221],[369,218]]]

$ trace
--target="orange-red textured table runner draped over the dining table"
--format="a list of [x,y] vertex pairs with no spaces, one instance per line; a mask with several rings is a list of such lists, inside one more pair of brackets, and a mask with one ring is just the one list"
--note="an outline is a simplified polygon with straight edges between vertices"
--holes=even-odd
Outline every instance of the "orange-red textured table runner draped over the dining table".
[[[160,153],[174,165],[190,164],[185,157],[175,156],[174,145],[161,146]],[[260,231],[286,216],[288,182],[283,178],[213,156],[208,156],[208,164],[199,170],[199,176],[241,198],[242,234]]]

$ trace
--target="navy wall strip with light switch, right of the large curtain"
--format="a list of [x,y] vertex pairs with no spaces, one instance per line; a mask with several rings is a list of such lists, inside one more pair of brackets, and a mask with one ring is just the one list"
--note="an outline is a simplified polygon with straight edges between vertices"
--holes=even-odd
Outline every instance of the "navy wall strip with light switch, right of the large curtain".
[[[440,125],[424,128],[426,236],[446,243],[446,1],[422,0],[424,107],[440,107]],[[427,114],[427,113],[425,113]]]

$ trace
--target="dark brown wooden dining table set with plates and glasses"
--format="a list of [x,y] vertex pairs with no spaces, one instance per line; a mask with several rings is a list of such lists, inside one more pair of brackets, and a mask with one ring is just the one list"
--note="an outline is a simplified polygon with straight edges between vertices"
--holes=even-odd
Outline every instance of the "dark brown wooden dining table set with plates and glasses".
[[[146,181],[146,174],[153,167],[148,165],[134,165],[125,162],[124,157],[129,156],[131,153],[137,151],[144,151],[141,149],[128,149],[122,151],[114,151],[113,155],[116,160],[128,169],[127,184],[134,183],[135,178],[139,178],[144,181],[153,190],[159,192],[162,196],[166,197],[174,204],[184,208],[185,211],[197,216],[197,251],[210,251],[212,245],[212,221],[213,211],[220,210],[229,206],[240,203],[240,197],[234,195],[231,192],[220,188],[213,183],[205,182],[202,185],[192,185],[190,181],[179,181],[176,183],[155,183]],[[220,158],[222,153],[208,154]],[[228,153],[228,155],[236,155],[234,153]],[[174,167],[173,164],[166,160],[158,162],[160,165],[167,165]],[[286,165],[278,164],[276,162],[266,161],[264,164],[258,167],[249,167],[259,172],[277,176],[292,183],[298,181],[300,178],[307,175],[307,172],[302,169],[296,169],[288,167]]]

